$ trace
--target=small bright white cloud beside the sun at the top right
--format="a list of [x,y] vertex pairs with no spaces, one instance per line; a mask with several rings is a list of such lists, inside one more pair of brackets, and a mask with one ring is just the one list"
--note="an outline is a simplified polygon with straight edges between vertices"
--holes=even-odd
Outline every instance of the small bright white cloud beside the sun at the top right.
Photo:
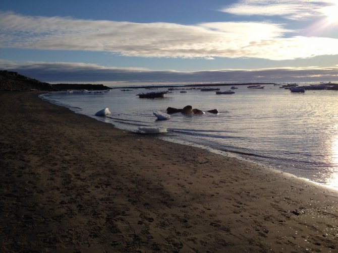
[[281,16],[291,20],[305,20],[323,16],[333,0],[241,0],[220,11],[235,15]]

